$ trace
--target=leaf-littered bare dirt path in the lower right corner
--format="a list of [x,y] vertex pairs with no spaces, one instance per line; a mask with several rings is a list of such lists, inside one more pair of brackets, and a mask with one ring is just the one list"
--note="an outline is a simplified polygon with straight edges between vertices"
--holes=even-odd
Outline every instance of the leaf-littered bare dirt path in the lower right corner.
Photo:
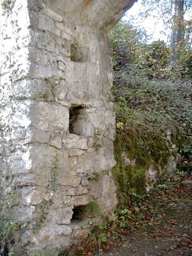
[[192,198],[170,201],[157,212],[146,236],[129,237],[104,256],[192,255]]

